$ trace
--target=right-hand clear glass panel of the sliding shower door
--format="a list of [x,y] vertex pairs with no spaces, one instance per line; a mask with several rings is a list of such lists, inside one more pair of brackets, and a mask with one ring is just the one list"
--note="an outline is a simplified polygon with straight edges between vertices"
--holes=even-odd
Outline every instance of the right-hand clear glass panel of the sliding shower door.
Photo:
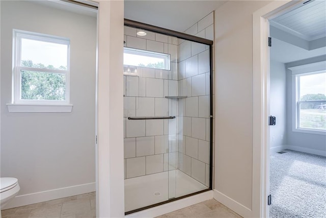
[[178,198],[206,190],[210,183],[209,46],[187,40],[179,42],[178,94],[171,97],[176,135],[169,135],[176,143],[176,156],[169,161],[176,162],[176,168],[169,171],[169,198],[172,192]]

